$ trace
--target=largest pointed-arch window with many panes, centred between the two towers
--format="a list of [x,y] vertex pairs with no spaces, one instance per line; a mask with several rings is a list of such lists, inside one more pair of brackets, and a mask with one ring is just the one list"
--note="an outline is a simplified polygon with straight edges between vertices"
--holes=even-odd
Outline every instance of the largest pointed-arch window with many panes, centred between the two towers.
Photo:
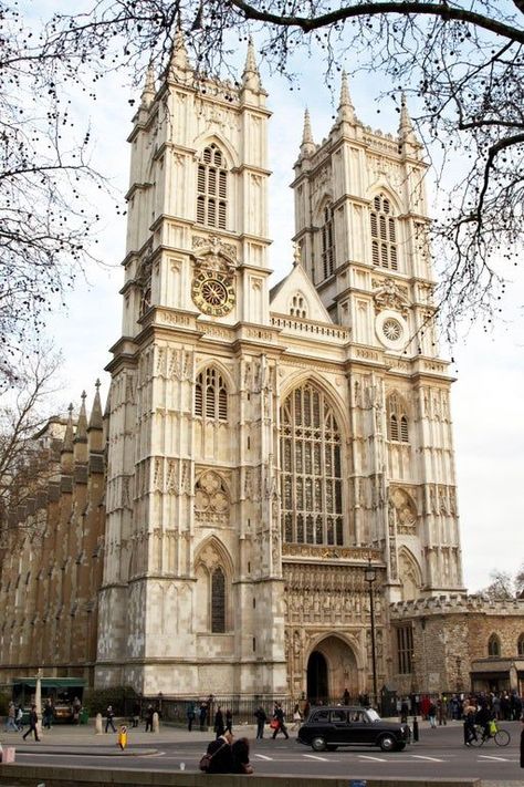
[[344,543],[340,432],[324,392],[295,389],[281,411],[283,539]]

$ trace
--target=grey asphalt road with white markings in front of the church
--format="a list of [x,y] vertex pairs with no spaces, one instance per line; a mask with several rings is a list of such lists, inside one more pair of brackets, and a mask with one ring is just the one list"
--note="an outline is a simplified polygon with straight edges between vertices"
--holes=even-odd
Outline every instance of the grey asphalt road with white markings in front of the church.
[[[524,772],[520,768],[520,724],[503,725],[512,741],[505,748],[493,742],[481,748],[468,748],[462,744],[462,725],[429,729],[421,725],[420,742],[405,752],[382,753],[375,748],[338,749],[333,753],[316,753],[297,744],[294,737],[285,741],[253,741],[254,728],[238,727],[237,735],[251,739],[251,762],[263,774],[310,776],[370,777],[476,777],[500,787],[505,783],[520,781]],[[203,753],[209,734],[164,727],[158,734],[129,731],[129,747],[119,753],[116,736],[95,735],[90,727],[54,727],[36,744],[20,741],[15,734],[2,734],[4,745],[17,746],[19,763],[45,765],[73,765],[83,767],[111,767],[147,770],[178,770],[181,763],[187,770],[195,770]]]

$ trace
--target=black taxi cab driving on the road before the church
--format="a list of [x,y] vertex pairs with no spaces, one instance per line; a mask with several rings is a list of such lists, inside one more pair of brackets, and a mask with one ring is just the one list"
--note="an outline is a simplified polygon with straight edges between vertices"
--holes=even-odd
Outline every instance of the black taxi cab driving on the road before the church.
[[326,705],[312,708],[296,739],[315,752],[335,752],[339,746],[401,752],[411,739],[411,729],[401,722],[382,721],[370,707]]

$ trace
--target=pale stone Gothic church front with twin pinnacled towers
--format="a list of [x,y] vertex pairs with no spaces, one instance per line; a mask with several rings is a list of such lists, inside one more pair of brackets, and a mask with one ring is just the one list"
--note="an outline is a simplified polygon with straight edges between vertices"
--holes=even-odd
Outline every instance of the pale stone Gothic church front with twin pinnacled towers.
[[462,587],[407,110],[398,136],[371,132],[344,76],[322,145],[306,115],[295,260],[270,292],[265,99],[252,44],[233,87],[195,72],[178,34],[134,118],[101,686],[356,694],[368,561],[380,685],[401,671],[398,642],[410,653],[390,602]]

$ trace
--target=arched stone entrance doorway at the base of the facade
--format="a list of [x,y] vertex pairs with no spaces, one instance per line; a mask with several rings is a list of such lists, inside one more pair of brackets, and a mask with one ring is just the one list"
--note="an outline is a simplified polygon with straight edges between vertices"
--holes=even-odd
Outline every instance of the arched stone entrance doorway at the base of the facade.
[[306,696],[310,702],[340,702],[345,690],[352,700],[360,691],[353,648],[333,634],[316,643],[307,660]]

